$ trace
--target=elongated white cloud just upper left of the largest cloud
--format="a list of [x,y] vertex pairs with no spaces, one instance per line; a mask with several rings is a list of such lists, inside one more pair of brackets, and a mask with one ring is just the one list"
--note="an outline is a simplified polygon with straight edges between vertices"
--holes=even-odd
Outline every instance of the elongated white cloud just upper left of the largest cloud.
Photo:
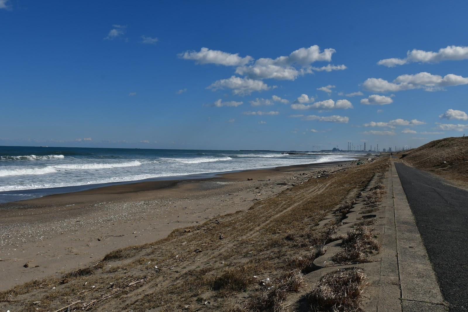
[[232,54],[218,50],[201,48],[200,51],[185,51],[178,54],[180,58],[194,60],[197,64],[217,64],[225,66],[243,66],[253,60],[251,56],[241,58],[239,53]]

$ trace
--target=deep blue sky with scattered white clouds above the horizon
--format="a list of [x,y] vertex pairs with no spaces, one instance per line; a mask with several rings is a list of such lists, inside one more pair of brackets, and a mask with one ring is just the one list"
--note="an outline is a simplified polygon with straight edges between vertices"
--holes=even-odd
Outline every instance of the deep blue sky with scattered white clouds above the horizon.
[[0,0],[0,145],[381,149],[461,136],[467,9]]

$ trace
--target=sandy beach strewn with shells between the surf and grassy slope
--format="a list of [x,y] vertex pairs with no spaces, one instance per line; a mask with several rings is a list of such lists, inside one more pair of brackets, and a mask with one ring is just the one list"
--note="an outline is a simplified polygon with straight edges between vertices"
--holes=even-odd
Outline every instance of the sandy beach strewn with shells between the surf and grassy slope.
[[83,267],[117,248],[162,239],[176,228],[246,210],[321,170],[340,170],[349,163],[139,182],[1,204],[0,290]]

